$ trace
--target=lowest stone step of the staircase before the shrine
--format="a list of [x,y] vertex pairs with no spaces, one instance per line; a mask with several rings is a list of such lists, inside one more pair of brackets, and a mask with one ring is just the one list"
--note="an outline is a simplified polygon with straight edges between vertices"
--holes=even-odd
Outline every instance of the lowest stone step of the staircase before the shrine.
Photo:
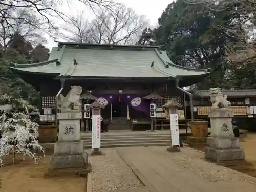
[[[129,146],[169,146],[169,142],[165,143],[119,143],[119,144],[102,144],[101,148],[129,147]],[[84,148],[92,148],[92,145],[84,145]]]

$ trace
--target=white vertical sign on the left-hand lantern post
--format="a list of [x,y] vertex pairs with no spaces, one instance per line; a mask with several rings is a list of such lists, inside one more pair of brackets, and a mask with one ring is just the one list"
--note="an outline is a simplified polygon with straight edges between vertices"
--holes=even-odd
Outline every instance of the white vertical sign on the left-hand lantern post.
[[92,116],[92,148],[100,148],[100,115]]

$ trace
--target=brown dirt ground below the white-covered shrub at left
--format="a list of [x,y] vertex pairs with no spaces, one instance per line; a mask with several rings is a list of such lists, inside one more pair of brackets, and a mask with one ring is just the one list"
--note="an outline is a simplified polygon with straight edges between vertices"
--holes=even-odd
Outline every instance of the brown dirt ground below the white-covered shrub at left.
[[18,156],[17,164],[12,164],[13,156],[4,159],[0,168],[0,191],[19,192],[84,192],[86,178],[63,176],[46,178],[50,156],[46,155],[34,164],[33,161]]

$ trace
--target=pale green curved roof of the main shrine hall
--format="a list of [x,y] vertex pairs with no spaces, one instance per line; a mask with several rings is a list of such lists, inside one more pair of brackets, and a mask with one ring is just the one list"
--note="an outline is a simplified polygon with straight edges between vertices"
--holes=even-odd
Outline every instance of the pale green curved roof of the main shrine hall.
[[[74,46],[76,45],[76,46]],[[77,65],[74,65],[74,60]],[[185,77],[210,73],[175,65],[157,46],[115,46],[60,43],[46,62],[19,65],[19,72],[72,77]]]

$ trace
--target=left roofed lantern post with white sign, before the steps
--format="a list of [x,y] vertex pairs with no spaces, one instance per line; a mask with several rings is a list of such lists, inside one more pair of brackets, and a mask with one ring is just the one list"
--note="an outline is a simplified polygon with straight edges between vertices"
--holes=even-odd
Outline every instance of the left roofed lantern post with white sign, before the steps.
[[100,125],[101,125],[101,115],[100,110],[105,107],[98,103],[97,101],[87,106],[87,109],[92,109],[92,155],[101,155],[100,151]]

